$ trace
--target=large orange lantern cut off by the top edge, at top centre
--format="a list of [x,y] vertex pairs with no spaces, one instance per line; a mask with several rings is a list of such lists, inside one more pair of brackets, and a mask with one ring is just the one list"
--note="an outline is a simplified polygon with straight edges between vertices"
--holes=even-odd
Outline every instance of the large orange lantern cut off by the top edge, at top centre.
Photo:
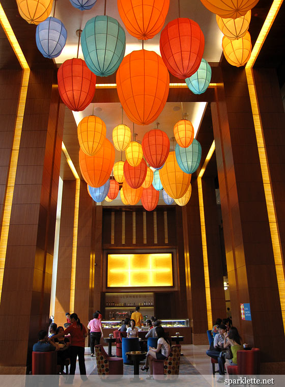
[[118,10],[129,34],[139,40],[152,39],[162,29],[169,0],[118,0]]

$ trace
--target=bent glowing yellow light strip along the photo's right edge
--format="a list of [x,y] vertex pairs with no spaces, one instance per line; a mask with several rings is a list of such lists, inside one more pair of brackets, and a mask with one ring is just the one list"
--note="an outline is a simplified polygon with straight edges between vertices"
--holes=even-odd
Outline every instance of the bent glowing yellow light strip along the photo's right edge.
[[268,212],[271,241],[272,241],[273,255],[274,255],[274,261],[275,261],[277,284],[278,284],[279,297],[280,297],[281,313],[282,313],[282,319],[283,319],[283,329],[285,331],[285,279],[284,279],[284,270],[282,265],[282,261],[283,261],[282,248],[281,248],[280,233],[279,233],[279,227],[278,227],[277,216],[276,216],[274,195],[273,195],[272,185],[271,185],[270,171],[268,166],[266,145],[264,141],[263,127],[262,127],[262,121],[261,121],[260,110],[259,110],[257,91],[255,89],[255,82],[254,82],[254,75],[253,75],[253,65],[257,60],[257,57],[260,53],[263,43],[265,42],[265,39],[270,31],[270,28],[275,20],[275,17],[279,11],[279,8],[281,7],[282,2],[283,2],[282,0],[273,1],[272,6],[268,12],[266,20],[261,29],[261,32],[258,36],[258,39],[252,49],[250,59],[245,66],[245,72],[246,72],[249,98],[250,98],[251,109],[252,109],[255,135],[257,137],[261,172],[262,172],[262,178],[263,178],[263,186],[264,186],[264,192],[265,192],[265,200],[266,200],[266,206],[267,206],[267,212]]

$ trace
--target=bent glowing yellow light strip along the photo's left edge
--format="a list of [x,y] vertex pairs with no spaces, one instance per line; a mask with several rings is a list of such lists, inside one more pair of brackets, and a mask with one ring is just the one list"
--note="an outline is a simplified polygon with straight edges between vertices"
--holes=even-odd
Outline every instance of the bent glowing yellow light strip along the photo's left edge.
[[10,227],[10,218],[11,218],[12,202],[13,202],[13,195],[14,195],[15,177],[16,177],[16,171],[17,171],[17,163],[18,163],[25,103],[26,103],[27,87],[29,85],[29,78],[30,78],[30,68],[25,60],[24,54],[19,46],[19,43],[15,37],[15,34],[11,28],[11,25],[7,19],[7,16],[1,4],[0,4],[0,23],[23,69],[18,108],[16,113],[14,139],[13,139],[7,187],[6,187],[6,193],[5,193],[2,225],[1,225],[1,236],[0,236],[0,302],[1,302],[7,243],[8,243],[8,235],[9,235],[9,227]]

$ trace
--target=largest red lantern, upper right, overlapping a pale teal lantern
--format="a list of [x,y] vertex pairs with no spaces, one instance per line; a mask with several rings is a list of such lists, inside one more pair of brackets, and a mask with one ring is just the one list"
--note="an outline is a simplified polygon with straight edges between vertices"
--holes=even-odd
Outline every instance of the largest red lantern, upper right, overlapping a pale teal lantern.
[[186,17],[169,21],[160,34],[161,58],[169,72],[180,79],[188,78],[198,70],[204,45],[200,26]]

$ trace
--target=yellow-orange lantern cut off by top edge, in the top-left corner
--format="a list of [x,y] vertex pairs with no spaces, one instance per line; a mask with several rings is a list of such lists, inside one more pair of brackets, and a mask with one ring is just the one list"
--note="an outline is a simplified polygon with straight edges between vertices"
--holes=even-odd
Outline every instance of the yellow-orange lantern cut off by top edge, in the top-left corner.
[[39,24],[51,12],[53,0],[17,0],[21,17],[30,24]]

